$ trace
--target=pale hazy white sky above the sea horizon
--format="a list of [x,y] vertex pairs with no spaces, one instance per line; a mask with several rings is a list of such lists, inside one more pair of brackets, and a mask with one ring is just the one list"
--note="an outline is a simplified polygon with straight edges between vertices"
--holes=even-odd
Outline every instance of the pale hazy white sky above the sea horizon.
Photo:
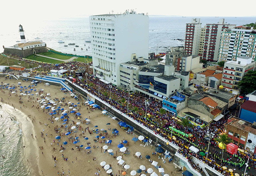
[[[239,6],[239,2],[244,7]],[[214,0],[211,3],[208,0],[3,0],[0,19],[1,22],[59,20],[108,14],[112,10],[117,14],[126,9],[148,13],[149,16],[240,17],[256,16],[255,5],[255,0],[247,0],[246,3],[240,0]]]

